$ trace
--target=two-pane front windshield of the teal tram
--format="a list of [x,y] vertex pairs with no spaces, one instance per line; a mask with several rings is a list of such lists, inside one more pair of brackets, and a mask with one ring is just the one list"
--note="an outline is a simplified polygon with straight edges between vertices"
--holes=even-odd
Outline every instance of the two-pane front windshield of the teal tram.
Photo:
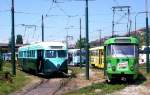
[[66,57],[67,52],[65,50],[47,50],[45,52],[46,58]]

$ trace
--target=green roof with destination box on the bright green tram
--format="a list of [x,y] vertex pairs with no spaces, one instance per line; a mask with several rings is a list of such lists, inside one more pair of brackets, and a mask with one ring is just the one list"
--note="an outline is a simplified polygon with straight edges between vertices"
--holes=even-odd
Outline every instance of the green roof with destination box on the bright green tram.
[[105,41],[105,45],[108,44],[115,44],[115,43],[131,43],[131,44],[138,44],[138,40],[134,37],[114,37],[110,38]]

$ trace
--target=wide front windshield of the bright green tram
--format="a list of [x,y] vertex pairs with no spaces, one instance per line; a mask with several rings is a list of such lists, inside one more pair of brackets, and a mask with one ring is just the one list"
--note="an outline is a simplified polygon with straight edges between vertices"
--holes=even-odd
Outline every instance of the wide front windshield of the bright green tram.
[[109,49],[110,55],[113,57],[135,57],[138,52],[135,45],[111,45]]

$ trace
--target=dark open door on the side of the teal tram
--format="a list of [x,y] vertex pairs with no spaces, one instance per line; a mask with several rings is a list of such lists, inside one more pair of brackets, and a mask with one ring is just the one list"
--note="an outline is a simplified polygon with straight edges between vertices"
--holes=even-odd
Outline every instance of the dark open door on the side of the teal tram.
[[43,67],[44,67],[43,56],[44,56],[44,51],[43,50],[38,50],[37,51],[37,71],[39,73],[42,72]]

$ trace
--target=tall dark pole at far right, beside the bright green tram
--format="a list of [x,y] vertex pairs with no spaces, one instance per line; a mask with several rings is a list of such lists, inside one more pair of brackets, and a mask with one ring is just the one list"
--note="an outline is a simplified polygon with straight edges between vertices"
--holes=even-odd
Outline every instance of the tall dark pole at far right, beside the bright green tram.
[[147,73],[150,72],[150,66],[149,66],[149,28],[148,28],[148,0],[145,0],[145,12],[146,12],[146,66],[147,66]]

